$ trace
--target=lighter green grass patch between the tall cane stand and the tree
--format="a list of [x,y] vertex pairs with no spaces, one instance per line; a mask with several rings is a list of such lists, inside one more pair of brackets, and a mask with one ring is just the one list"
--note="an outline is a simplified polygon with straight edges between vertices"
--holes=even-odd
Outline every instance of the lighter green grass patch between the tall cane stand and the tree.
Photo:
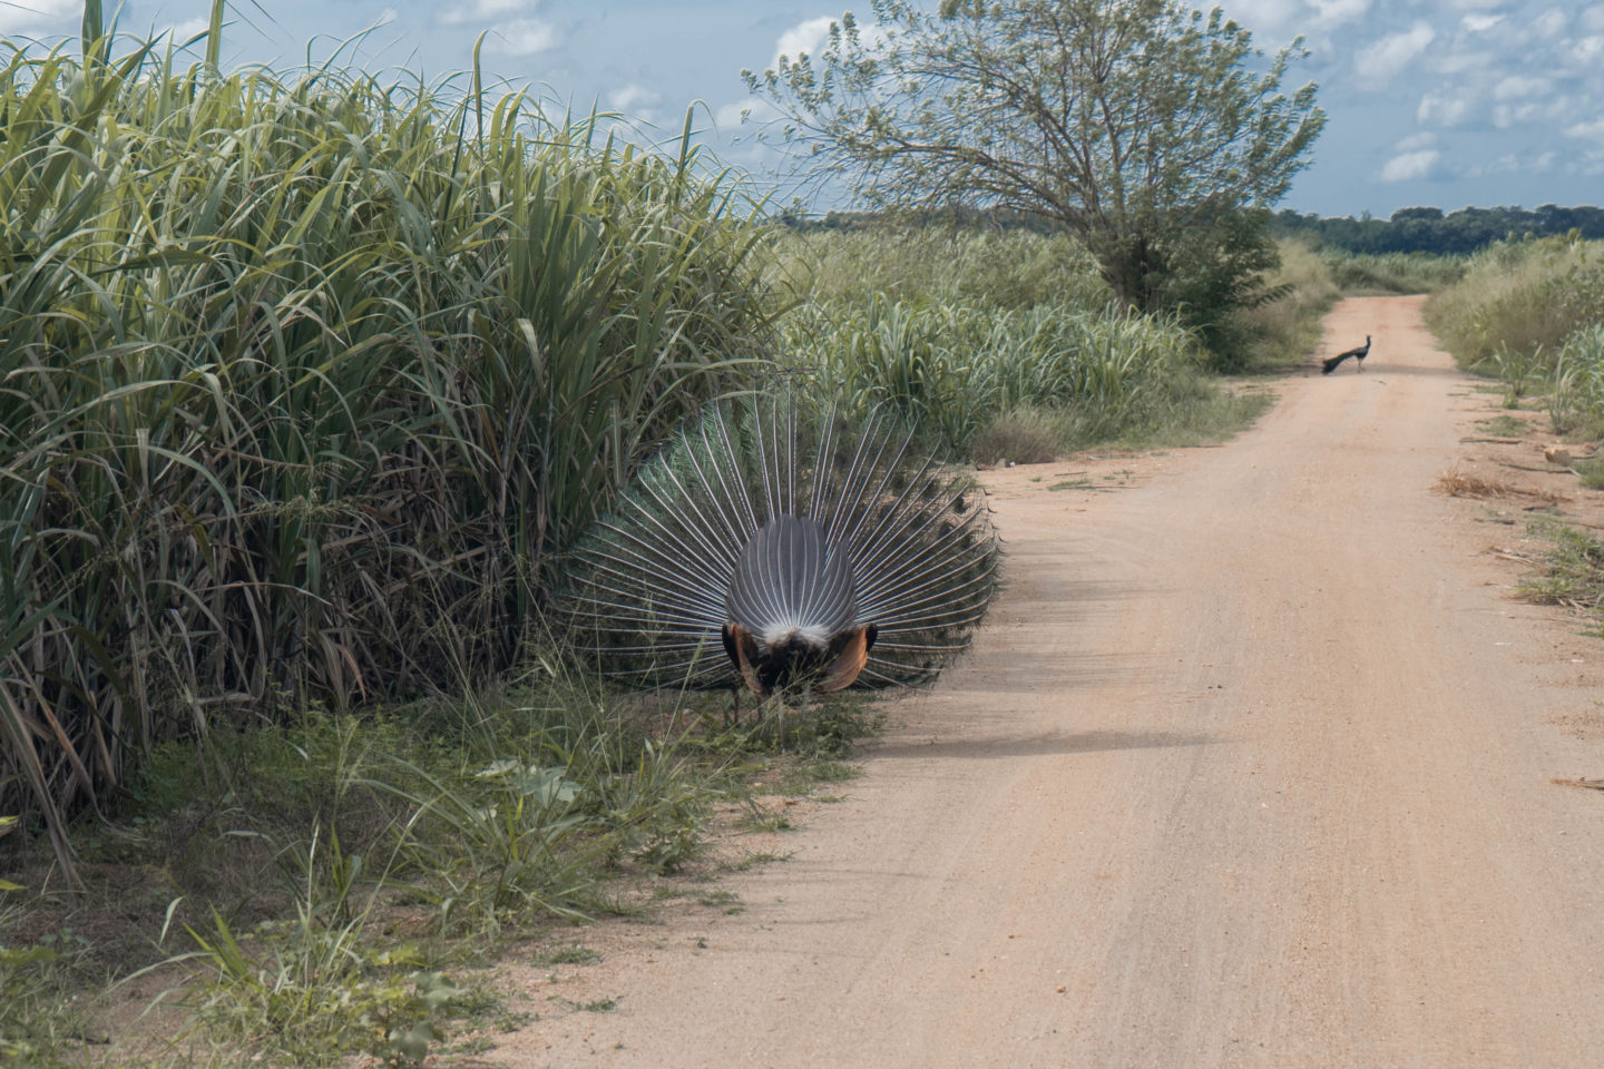
[[780,245],[781,362],[849,415],[890,405],[954,455],[1217,441],[1267,402],[1222,388],[1177,316],[1121,309],[1068,234],[865,223]]

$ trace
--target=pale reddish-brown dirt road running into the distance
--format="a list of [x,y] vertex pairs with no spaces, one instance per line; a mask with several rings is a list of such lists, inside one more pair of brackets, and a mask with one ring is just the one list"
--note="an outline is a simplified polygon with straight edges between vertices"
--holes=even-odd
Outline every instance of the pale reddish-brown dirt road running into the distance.
[[1011,587],[852,798],[491,1061],[1596,1064],[1604,797],[1549,781],[1604,776],[1604,651],[1431,492],[1477,402],[1418,309],[1343,303],[1363,373],[1121,489],[998,473]]

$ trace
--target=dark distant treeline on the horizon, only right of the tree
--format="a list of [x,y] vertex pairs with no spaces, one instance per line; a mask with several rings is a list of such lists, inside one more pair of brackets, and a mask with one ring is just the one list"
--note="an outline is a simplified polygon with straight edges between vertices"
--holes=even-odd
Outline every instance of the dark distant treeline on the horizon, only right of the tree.
[[1327,216],[1277,212],[1270,231],[1277,237],[1312,239],[1317,247],[1352,253],[1469,253],[1493,242],[1521,237],[1551,237],[1578,231],[1582,237],[1604,237],[1604,208],[1580,205],[1561,208],[1399,208],[1391,220],[1368,215]]

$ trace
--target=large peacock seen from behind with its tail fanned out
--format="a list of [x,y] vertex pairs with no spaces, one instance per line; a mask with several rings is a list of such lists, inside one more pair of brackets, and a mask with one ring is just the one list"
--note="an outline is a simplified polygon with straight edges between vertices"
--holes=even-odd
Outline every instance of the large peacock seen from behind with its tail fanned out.
[[707,405],[568,559],[581,652],[635,686],[932,680],[996,590],[998,540],[964,473],[871,413]]

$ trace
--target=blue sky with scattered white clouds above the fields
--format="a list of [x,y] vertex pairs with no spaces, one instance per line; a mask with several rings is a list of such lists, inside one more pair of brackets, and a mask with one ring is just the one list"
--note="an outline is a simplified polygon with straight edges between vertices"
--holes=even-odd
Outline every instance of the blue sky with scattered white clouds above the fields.
[[[934,0],[930,0],[934,3]],[[773,149],[741,125],[743,67],[815,50],[868,3],[757,0],[241,0],[225,64],[303,63],[436,77],[483,66],[579,111],[677,135],[687,109],[720,160],[764,173]],[[115,6],[106,0],[106,10]],[[1314,162],[1280,208],[1389,216],[1402,207],[1604,204],[1604,0],[1221,0],[1274,51],[1304,38],[1285,85],[1317,82],[1328,114]],[[74,34],[79,0],[0,0],[0,35]],[[122,32],[205,27],[205,0],[124,0]],[[656,131],[656,135],[653,133]],[[840,205],[816,205],[840,207]]]

